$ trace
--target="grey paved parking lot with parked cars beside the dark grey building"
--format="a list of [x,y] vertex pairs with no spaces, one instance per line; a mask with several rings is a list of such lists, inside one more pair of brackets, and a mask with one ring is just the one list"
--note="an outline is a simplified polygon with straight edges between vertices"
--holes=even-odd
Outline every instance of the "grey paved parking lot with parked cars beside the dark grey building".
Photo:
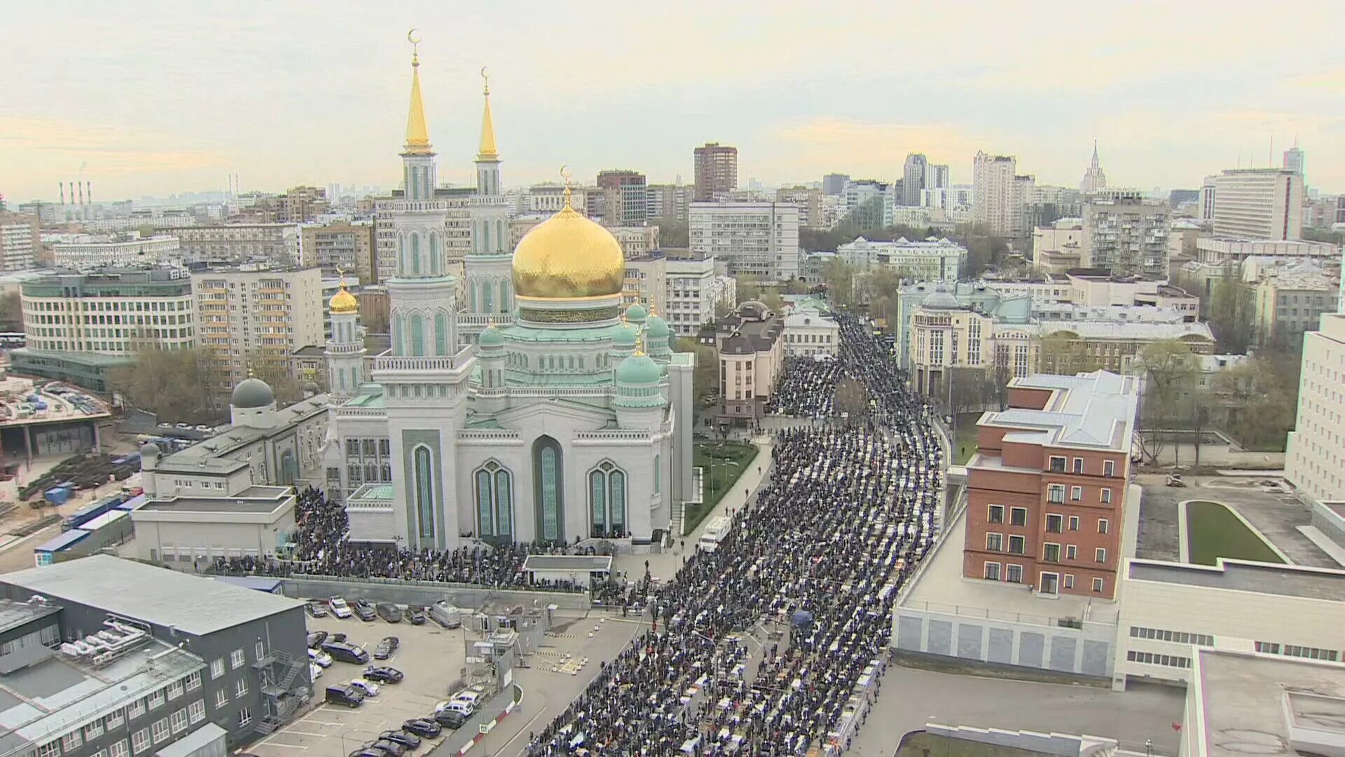
[[[401,647],[389,660],[370,660],[386,664],[405,673],[401,683],[379,684],[378,696],[364,699],[360,707],[325,704],[328,686],[350,683],[359,678],[364,665],[334,661],[313,682],[316,707],[303,713],[285,727],[247,748],[260,757],[346,757],[360,745],[374,741],[385,730],[398,730],[410,718],[422,718],[434,711],[434,704],[448,699],[449,686],[461,679],[465,664],[463,630],[445,630],[433,621],[425,625],[409,622],[370,622],[351,617],[336,620],[308,618],[309,630],[340,632],[347,641],[363,647],[370,655],[385,636],[395,636]],[[422,745],[418,753],[448,735]]]

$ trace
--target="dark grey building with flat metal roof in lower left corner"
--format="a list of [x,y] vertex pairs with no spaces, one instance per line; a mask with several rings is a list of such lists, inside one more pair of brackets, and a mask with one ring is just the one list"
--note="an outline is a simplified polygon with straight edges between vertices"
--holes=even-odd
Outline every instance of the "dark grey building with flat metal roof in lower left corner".
[[[24,731],[12,730],[5,738],[13,739],[13,749],[5,754],[36,749],[62,757],[128,757],[152,748],[163,754],[169,742],[211,723],[227,734],[227,753],[274,730],[312,696],[299,599],[110,555],[5,574],[0,593],[58,607],[61,638],[70,640],[47,661],[7,678],[28,699],[79,703],[78,713],[65,717],[31,703],[8,704],[15,717],[46,717],[32,721],[40,735],[26,744],[19,741]],[[120,638],[106,668],[104,657],[75,644],[82,638],[93,645],[87,640],[102,630]],[[46,688],[31,679],[46,680]],[[52,696],[52,690],[67,695]],[[7,721],[13,729],[13,719]],[[47,729],[39,726],[48,721]]]

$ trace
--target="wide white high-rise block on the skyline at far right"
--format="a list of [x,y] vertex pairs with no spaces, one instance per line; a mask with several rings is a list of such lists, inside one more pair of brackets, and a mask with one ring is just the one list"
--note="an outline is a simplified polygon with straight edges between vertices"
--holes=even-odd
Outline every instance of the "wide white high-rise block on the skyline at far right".
[[1215,176],[1215,236],[1303,236],[1303,176],[1287,168],[1235,168]]

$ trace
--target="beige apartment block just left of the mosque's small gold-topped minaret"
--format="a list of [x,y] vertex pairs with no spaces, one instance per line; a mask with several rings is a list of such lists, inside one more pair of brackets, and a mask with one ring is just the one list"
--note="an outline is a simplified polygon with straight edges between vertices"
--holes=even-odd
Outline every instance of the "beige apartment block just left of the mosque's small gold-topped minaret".
[[260,362],[286,366],[289,354],[323,342],[323,280],[317,268],[239,265],[191,275],[199,345],[221,362],[225,392]]

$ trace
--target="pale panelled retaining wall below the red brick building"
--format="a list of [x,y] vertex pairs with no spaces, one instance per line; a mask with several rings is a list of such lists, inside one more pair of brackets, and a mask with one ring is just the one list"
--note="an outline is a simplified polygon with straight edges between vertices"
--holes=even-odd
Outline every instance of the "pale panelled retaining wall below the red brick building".
[[1084,622],[1075,629],[901,606],[896,613],[896,647],[902,652],[1111,676],[1114,625]]

